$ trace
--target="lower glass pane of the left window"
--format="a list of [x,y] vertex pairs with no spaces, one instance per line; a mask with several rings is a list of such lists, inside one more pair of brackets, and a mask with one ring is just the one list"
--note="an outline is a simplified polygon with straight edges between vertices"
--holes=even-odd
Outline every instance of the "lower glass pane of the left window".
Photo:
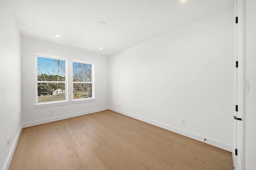
[[65,83],[38,83],[37,95],[38,103],[66,100]]

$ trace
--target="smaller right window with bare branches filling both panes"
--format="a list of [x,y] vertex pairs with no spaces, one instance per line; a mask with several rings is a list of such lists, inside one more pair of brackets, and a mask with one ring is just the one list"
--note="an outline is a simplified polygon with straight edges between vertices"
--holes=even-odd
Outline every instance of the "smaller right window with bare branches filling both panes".
[[73,100],[94,98],[93,64],[73,61]]

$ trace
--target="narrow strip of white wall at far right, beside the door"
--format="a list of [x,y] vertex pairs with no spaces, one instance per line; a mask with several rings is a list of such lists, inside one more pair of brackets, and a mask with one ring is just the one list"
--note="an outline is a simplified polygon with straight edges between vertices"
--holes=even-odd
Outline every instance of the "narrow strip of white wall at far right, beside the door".
[[246,92],[245,169],[256,168],[256,1],[246,0],[246,77],[249,77],[249,92]]

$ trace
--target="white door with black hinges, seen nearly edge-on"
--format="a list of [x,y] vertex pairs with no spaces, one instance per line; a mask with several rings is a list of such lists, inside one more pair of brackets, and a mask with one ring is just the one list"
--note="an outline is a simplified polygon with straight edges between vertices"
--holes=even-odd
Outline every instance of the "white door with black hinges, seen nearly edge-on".
[[[236,170],[244,170],[244,114],[245,114],[245,47],[244,47],[244,5],[245,0],[235,1],[235,61],[238,67],[235,68],[235,93],[234,93],[234,165]],[[235,117],[234,117],[235,118]],[[241,120],[242,119],[242,120]],[[237,149],[237,152],[236,152]]]

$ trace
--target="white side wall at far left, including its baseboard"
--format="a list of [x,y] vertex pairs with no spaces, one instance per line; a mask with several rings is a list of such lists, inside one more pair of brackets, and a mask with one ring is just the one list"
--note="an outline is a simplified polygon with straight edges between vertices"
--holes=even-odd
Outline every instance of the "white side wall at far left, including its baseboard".
[[0,169],[9,167],[20,134],[20,91],[20,32],[8,0],[0,0]]

